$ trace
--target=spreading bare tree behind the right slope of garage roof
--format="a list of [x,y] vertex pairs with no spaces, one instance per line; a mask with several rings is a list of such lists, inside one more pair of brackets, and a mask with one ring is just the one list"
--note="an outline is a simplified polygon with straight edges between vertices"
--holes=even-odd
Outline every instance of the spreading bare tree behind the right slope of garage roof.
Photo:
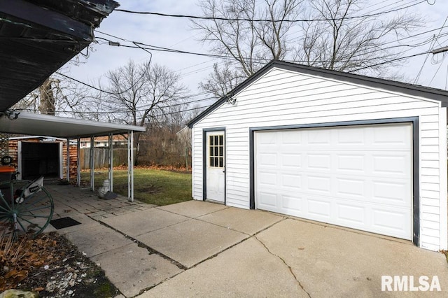
[[324,69],[354,71],[366,67],[373,75],[388,76],[384,70],[398,63],[390,61],[400,57],[400,52],[396,46],[386,45],[423,24],[412,14],[360,16],[370,3],[363,0],[308,3],[304,16],[323,21],[301,23],[303,34],[294,59]]

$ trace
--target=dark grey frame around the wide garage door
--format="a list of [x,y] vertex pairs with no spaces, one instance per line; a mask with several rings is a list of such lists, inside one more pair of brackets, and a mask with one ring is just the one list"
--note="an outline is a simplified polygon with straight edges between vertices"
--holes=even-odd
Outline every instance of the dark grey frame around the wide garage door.
[[249,208],[255,209],[255,132],[279,129],[306,129],[319,127],[342,127],[354,125],[381,125],[396,123],[412,124],[412,243],[420,244],[420,172],[419,172],[419,117],[355,120],[307,125],[283,125],[272,127],[249,127]]

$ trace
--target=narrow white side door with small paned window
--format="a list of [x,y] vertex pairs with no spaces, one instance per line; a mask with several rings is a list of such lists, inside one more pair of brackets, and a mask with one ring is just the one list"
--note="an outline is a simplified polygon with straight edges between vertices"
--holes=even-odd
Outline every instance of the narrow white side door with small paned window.
[[224,131],[207,132],[207,197],[225,203],[225,140]]

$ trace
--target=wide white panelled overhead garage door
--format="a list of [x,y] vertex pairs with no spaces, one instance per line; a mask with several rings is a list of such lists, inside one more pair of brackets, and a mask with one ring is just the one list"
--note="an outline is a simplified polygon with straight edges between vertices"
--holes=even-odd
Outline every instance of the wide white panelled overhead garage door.
[[412,239],[412,126],[255,132],[255,207]]

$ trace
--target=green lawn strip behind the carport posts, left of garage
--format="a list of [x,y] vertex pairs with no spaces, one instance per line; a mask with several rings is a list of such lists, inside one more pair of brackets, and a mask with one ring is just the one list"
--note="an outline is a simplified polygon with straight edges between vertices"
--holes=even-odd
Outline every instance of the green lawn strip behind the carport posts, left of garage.
[[[107,178],[106,170],[95,171],[95,189]],[[90,172],[81,173],[89,183]],[[113,192],[127,197],[127,170],[113,170]],[[191,174],[161,169],[134,169],[134,199],[164,206],[191,199]]]

